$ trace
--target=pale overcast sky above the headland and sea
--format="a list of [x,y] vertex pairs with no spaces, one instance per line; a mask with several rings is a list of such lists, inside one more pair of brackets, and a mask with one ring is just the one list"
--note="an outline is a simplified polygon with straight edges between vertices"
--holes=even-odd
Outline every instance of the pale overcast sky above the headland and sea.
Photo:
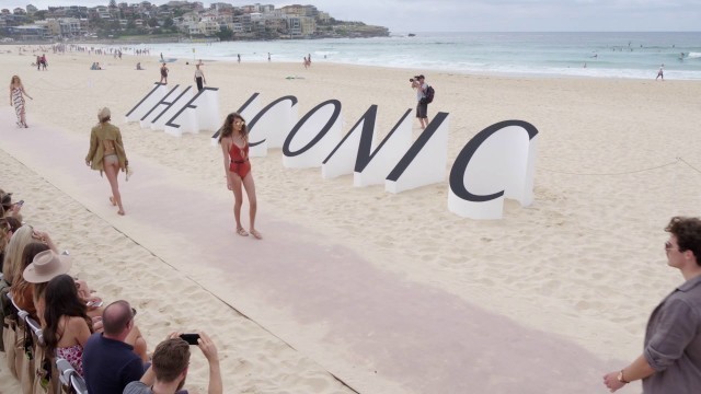
[[[122,2],[122,1],[117,1]],[[126,1],[128,3],[138,1]],[[164,4],[168,1],[153,0]],[[233,5],[255,1],[222,0]],[[0,8],[107,5],[108,0],[0,0]],[[203,1],[209,7],[211,1]],[[275,7],[294,1],[260,1]],[[407,32],[700,31],[700,0],[311,0],[331,16]]]

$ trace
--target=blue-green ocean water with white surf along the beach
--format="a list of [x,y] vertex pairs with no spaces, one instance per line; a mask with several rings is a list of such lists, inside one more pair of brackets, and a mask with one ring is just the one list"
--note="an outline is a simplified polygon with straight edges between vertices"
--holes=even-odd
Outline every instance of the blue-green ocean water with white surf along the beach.
[[[417,33],[327,38],[143,45],[165,58],[312,61],[432,71],[544,77],[701,79],[701,32]],[[681,55],[683,53],[683,56]],[[586,66],[586,67],[585,67]]]

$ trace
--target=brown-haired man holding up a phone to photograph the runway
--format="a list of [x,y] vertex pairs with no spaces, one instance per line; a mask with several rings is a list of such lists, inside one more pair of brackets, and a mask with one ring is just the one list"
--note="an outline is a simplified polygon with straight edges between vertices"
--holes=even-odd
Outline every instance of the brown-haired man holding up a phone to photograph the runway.
[[[199,349],[209,362],[209,394],[221,394],[221,371],[217,347],[205,333],[199,333]],[[156,347],[151,367],[139,382],[131,382],[124,394],[176,393],[183,389],[189,366],[189,345],[173,333]]]

